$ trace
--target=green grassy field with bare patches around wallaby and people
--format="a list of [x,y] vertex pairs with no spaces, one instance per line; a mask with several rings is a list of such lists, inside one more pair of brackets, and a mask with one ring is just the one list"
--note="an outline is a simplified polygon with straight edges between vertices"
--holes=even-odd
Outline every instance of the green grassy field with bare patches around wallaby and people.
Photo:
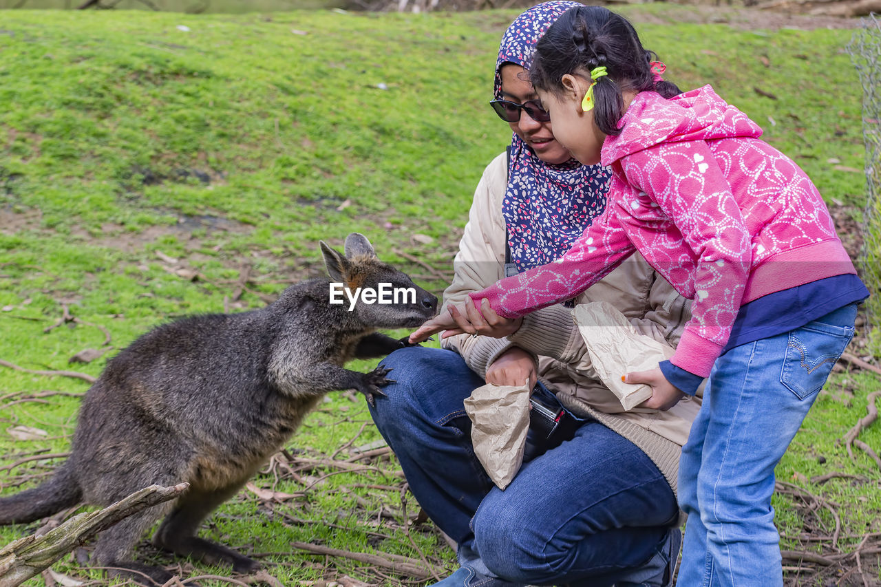
[[[851,31],[681,22],[687,10],[622,9],[644,23],[668,78],[712,83],[853,227],[865,189],[862,89],[843,49]],[[320,239],[339,245],[352,231],[440,294],[474,186],[509,138],[486,102],[515,14],[0,12],[0,360],[98,375],[153,325],[262,306],[322,271]],[[858,234],[842,238],[855,246]],[[89,348],[105,354],[69,364]],[[868,547],[881,532],[881,474],[840,441],[877,383],[865,371],[833,375],[778,469],[783,547],[841,554],[831,565],[788,559],[791,584],[878,581]],[[4,494],[59,462],[43,455],[68,450],[86,389],[0,368]],[[881,446],[881,426],[860,439]],[[405,524],[418,507],[394,457],[356,460],[378,440],[363,401],[332,394],[203,536],[265,561],[285,585],[429,578],[292,542],[448,573],[455,556],[433,524]],[[818,479],[833,472],[858,477]],[[0,529],[0,542],[38,527]],[[859,546],[870,554],[844,556]],[[143,556],[170,562],[146,546]],[[71,557],[55,569],[100,578]]]

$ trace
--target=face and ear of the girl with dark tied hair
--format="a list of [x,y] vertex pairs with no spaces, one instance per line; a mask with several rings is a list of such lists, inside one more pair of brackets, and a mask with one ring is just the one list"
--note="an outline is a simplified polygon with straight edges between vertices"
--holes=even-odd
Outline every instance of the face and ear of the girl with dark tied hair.
[[563,76],[563,91],[537,92],[542,106],[551,115],[554,137],[572,156],[584,165],[600,162],[600,149],[605,135],[594,123],[593,110],[585,112],[581,100],[590,87],[590,81],[579,76]]

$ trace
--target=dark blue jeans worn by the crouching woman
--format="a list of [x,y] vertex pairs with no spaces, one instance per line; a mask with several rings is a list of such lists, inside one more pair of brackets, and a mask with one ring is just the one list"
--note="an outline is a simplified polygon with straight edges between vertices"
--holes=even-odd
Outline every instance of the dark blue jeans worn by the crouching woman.
[[655,554],[676,497],[642,450],[596,420],[523,464],[501,491],[471,445],[463,401],[484,381],[451,351],[382,361],[397,383],[371,414],[412,494],[459,546],[459,561],[511,583],[603,587]]

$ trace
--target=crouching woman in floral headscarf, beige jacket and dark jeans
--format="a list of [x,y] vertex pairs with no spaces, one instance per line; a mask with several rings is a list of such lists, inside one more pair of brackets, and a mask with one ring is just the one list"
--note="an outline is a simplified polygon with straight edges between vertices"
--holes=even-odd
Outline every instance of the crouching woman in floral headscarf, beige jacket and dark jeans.
[[[446,303],[504,277],[506,260],[510,272],[561,256],[603,211],[608,171],[581,166],[554,140],[526,75],[537,39],[575,5],[539,4],[503,36],[492,107],[514,134],[509,154],[478,184]],[[641,259],[577,301],[599,300],[671,346],[688,317],[685,299]],[[443,349],[405,348],[383,361],[396,383],[371,409],[376,426],[419,504],[458,546],[461,568],[437,584],[671,584],[681,543],[677,463],[700,398],[670,412],[624,412],[583,368],[589,361],[571,308],[545,308],[508,326],[508,338],[459,335]],[[463,400],[485,383],[526,380],[541,381],[585,420],[501,491],[475,456]]]

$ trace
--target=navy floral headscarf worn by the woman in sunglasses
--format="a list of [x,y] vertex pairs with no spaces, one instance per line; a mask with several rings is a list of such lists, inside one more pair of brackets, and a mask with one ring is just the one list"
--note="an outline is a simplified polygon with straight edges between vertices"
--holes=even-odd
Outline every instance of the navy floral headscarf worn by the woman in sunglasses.
[[[493,93],[501,98],[501,66],[532,65],[536,43],[563,12],[576,2],[546,2],[518,16],[502,36]],[[550,165],[516,134],[511,138],[510,169],[502,212],[508,245],[518,271],[559,258],[603,212],[611,172],[599,165],[568,160]]]

